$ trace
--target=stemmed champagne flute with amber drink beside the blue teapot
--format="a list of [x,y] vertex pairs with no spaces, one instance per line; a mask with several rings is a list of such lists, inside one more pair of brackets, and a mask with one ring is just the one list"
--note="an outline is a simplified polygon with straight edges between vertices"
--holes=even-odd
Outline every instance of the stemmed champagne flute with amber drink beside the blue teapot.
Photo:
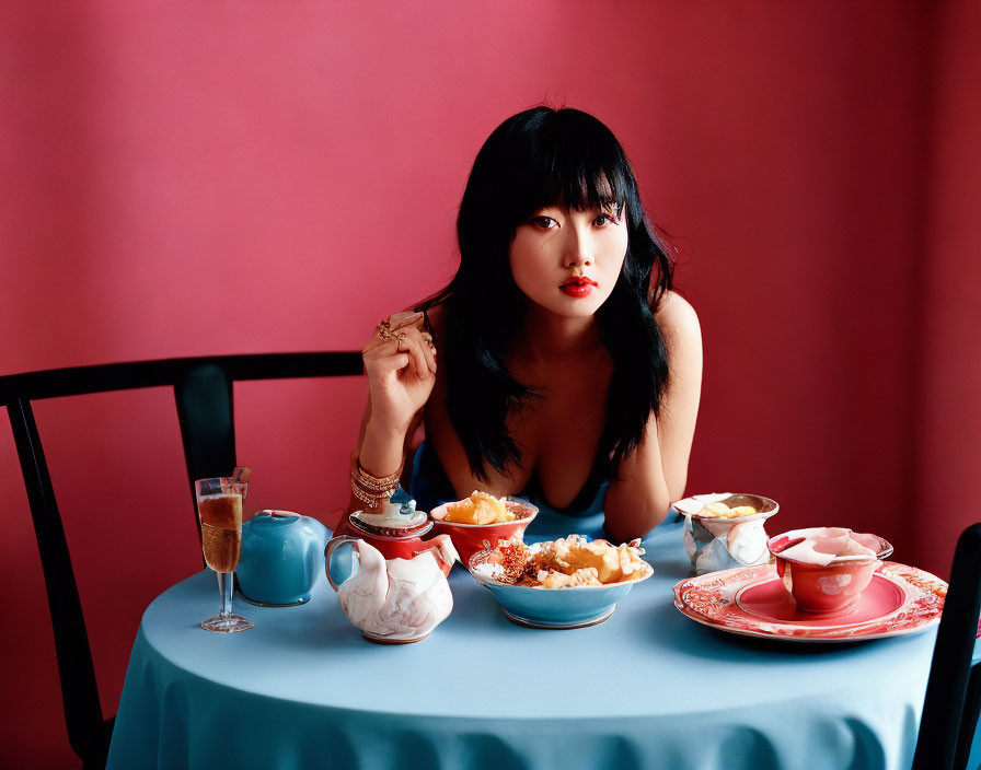
[[218,573],[218,592],[221,594],[218,615],[201,622],[206,631],[234,633],[255,626],[247,618],[232,615],[234,572],[242,547],[242,501],[247,486],[241,475],[194,482],[201,522],[201,550],[205,563]]

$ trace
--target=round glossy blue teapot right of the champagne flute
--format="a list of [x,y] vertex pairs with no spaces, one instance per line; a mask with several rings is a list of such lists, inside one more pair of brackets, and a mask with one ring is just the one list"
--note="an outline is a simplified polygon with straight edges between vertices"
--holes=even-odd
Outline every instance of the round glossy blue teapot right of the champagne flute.
[[310,600],[324,572],[327,528],[289,511],[259,511],[242,525],[242,551],[235,575],[242,596],[253,604],[288,607]]

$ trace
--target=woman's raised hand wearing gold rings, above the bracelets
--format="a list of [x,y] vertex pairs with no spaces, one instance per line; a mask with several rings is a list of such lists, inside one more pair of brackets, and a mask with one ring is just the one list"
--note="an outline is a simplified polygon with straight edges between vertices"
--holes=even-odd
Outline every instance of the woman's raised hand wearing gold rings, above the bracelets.
[[361,351],[371,398],[370,421],[382,432],[408,429],[436,382],[436,346],[422,313],[381,322]]

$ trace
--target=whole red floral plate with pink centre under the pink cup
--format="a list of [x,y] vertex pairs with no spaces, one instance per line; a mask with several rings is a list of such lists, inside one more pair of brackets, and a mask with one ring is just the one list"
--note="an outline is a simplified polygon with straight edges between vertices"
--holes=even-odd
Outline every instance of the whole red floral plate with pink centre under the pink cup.
[[940,620],[947,584],[939,578],[885,561],[846,614],[798,611],[773,564],[739,567],[683,580],[674,606],[719,631],[796,642],[851,642],[916,633]]

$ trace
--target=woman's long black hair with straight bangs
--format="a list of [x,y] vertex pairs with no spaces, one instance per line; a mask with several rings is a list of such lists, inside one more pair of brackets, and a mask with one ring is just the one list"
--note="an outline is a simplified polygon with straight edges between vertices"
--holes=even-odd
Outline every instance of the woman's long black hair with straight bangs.
[[440,365],[447,410],[471,472],[482,480],[485,463],[508,476],[508,466],[520,464],[507,416],[540,398],[505,362],[526,308],[511,277],[510,243],[520,224],[559,201],[578,210],[622,206],[626,215],[626,258],[597,312],[614,364],[598,470],[615,475],[636,448],[667,383],[667,351],[651,307],[671,288],[672,260],[644,213],[623,148],[609,128],[578,109],[542,106],[508,118],[484,142],[463,192],[457,220],[460,268],[449,285],[418,306],[446,308]]

